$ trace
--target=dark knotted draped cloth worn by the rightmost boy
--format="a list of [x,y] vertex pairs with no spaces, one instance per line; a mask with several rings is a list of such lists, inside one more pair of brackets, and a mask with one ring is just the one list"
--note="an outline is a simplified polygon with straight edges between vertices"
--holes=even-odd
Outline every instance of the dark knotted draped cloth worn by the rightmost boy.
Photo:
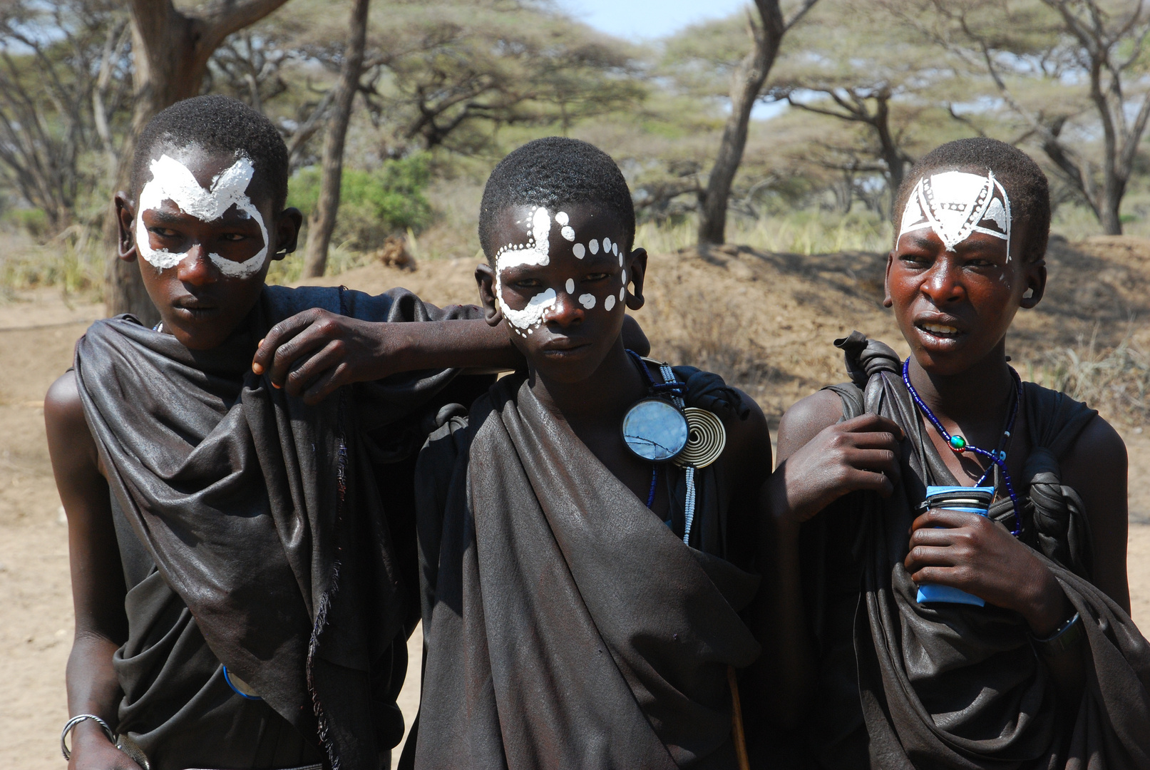
[[[1097,414],[1063,393],[1023,385],[1032,454],[1015,491],[1021,540],[1081,615],[1081,700],[1058,702],[1020,615],[987,605],[920,606],[903,567],[927,485],[956,485],[885,345],[854,332],[853,383],[835,386],[843,418],[881,414],[906,433],[890,500],[853,493],[804,526],[804,585],[820,656],[807,725],[818,765],[834,768],[1148,768],[1150,649],[1129,616],[1090,582],[1089,523],[1058,462]],[[1010,499],[990,516],[1013,523]]]

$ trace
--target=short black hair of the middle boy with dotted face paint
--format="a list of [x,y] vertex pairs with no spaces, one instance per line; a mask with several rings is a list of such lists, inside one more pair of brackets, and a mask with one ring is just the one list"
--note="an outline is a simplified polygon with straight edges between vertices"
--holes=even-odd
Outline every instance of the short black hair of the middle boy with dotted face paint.
[[529,141],[499,161],[483,188],[480,246],[491,260],[496,217],[512,206],[555,209],[567,203],[603,206],[623,226],[626,247],[635,242],[635,205],[622,171],[595,145],[566,137]]

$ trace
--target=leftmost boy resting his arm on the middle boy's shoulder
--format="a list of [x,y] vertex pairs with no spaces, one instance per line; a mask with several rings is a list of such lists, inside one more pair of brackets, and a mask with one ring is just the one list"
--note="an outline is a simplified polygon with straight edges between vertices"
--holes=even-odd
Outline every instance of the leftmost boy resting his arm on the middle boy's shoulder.
[[286,187],[275,126],[200,97],[148,124],[116,197],[121,257],[162,321],[97,322],[45,401],[76,606],[70,768],[377,770],[402,737],[405,457],[437,401],[468,398],[447,367],[521,357],[476,307],[266,286],[300,226]]

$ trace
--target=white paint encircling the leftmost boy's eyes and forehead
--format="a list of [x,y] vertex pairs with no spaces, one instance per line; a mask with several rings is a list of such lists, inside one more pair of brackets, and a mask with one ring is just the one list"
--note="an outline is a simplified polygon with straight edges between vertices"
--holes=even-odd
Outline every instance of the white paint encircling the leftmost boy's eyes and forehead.
[[139,213],[136,215],[136,249],[145,261],[158,270],[167,270],[187,257],[187,252],[172,254],[166,248],[152,248],[147,228],[144,225],[144,211],[156,210],[163,206],[163,201],[170,200],[184,214],[190,214],[202,222],[215,222],[232,206],[245,217],[255,220],[260,226],[260,234],[263,236],[263,247],[254,256],[243,262],[218,254],[208,254],[208,259],[229,278],[247,278],[263,268],[268,256],[268,229],[263,225],[260,210],[247,197],[247,185],[255,174],[252,161],[240,157],[212,179],[210,190],[201,187],[186,165],[168,155],[161,155],[159,160],[152,161],[150,169],[152,179],[140,191]]

